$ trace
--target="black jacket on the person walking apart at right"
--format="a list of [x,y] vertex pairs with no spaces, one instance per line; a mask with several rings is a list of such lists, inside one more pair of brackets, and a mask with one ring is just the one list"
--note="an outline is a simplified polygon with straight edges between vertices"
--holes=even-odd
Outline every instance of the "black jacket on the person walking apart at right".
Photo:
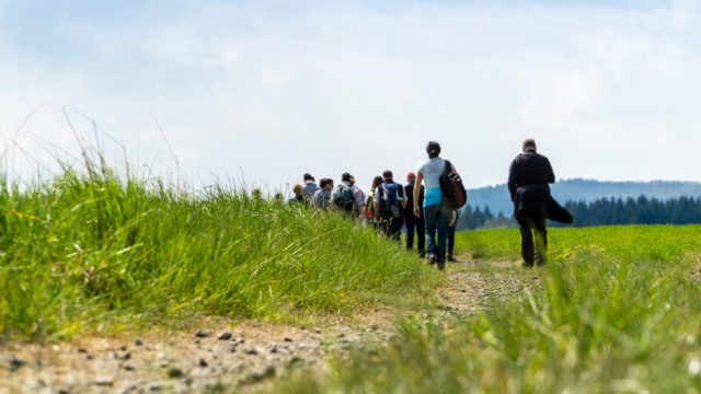
[[530,213],[562,223],[572,223],[572,215],[550,195],[549,184],[555,183],[550,161],[529,150],[514,159],[508,172],[508,192],[516,217]]

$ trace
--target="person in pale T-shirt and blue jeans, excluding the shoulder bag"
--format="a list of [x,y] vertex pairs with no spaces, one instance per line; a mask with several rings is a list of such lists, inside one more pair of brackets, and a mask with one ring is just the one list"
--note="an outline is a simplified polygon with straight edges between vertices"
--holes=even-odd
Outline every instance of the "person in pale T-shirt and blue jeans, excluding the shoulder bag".
[[[440,144],[429,141],[426,146],[428,161],[421,164],[414,184],[414,217],[421,216],[418,194],[424,182],[424,221],[426,223],[426,258],[438,269],[446,267],[446,235],[450,211],[441,205],[440,175],[446,170],[446,161],[440,155]],[[450,164],[451,170],[455,166]]]

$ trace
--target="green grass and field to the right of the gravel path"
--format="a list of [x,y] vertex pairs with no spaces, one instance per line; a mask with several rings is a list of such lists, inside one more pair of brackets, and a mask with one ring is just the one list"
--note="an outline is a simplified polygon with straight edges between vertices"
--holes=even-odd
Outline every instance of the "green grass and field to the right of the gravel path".
[[[532,270],[542,291],[493,300],[475,315],[405,321],[398,340],[335,360],[332,373],[297,376],[284,389],[699,392],[701,227],[556,229],[551,235],[551,263]],[[467,253],[518,256],[517,231],[458,240]]]

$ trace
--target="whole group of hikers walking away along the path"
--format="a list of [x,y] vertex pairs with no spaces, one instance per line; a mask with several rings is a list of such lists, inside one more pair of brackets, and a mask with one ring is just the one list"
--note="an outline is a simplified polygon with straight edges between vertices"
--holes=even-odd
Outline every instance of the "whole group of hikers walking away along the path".
[[[438,269],[445,269],[446,260],[456,262],[452,253],[458,208],[467,202],[467,194],[455,165],[440,158],[440,144],[429,141],[426,153],[428,160],[416,173],[406,175],[405,186],[394,182],[390,170],[372,179],[367,195],[349,173],[342,174],[336,186],[331,178],[321,178],[317,184],[312,175],[304,174],[303,184],[292,186],[295,197],[289,204],[341,212],[398,242],[405,228],[406,250],[413,248],[416,233],[418,255],[436,264]],[[520,227],[524,266],[545,263],[548,219],[573,221],[572,215],[550,195],[549,184],[554,182],[550,161],[537,152],[533,139],[526,139],[522,153],[512,162],[507,183]]]

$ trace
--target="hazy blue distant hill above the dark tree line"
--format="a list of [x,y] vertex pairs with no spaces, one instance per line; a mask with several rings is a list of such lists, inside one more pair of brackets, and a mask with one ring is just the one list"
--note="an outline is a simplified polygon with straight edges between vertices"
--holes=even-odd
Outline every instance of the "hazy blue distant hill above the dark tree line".
[[[701,197],[701,183],[677,181],[652,182],[600,182],[594,179],[565,179],[551,185],[552,195],[561,204],[566,201],[591,202],[600,198],[628,198],[644,195],[648,198],[668,200],[675,197]],[[468,189],[468,204],[507,217],[513,212],[512,200],[506,184]]]

